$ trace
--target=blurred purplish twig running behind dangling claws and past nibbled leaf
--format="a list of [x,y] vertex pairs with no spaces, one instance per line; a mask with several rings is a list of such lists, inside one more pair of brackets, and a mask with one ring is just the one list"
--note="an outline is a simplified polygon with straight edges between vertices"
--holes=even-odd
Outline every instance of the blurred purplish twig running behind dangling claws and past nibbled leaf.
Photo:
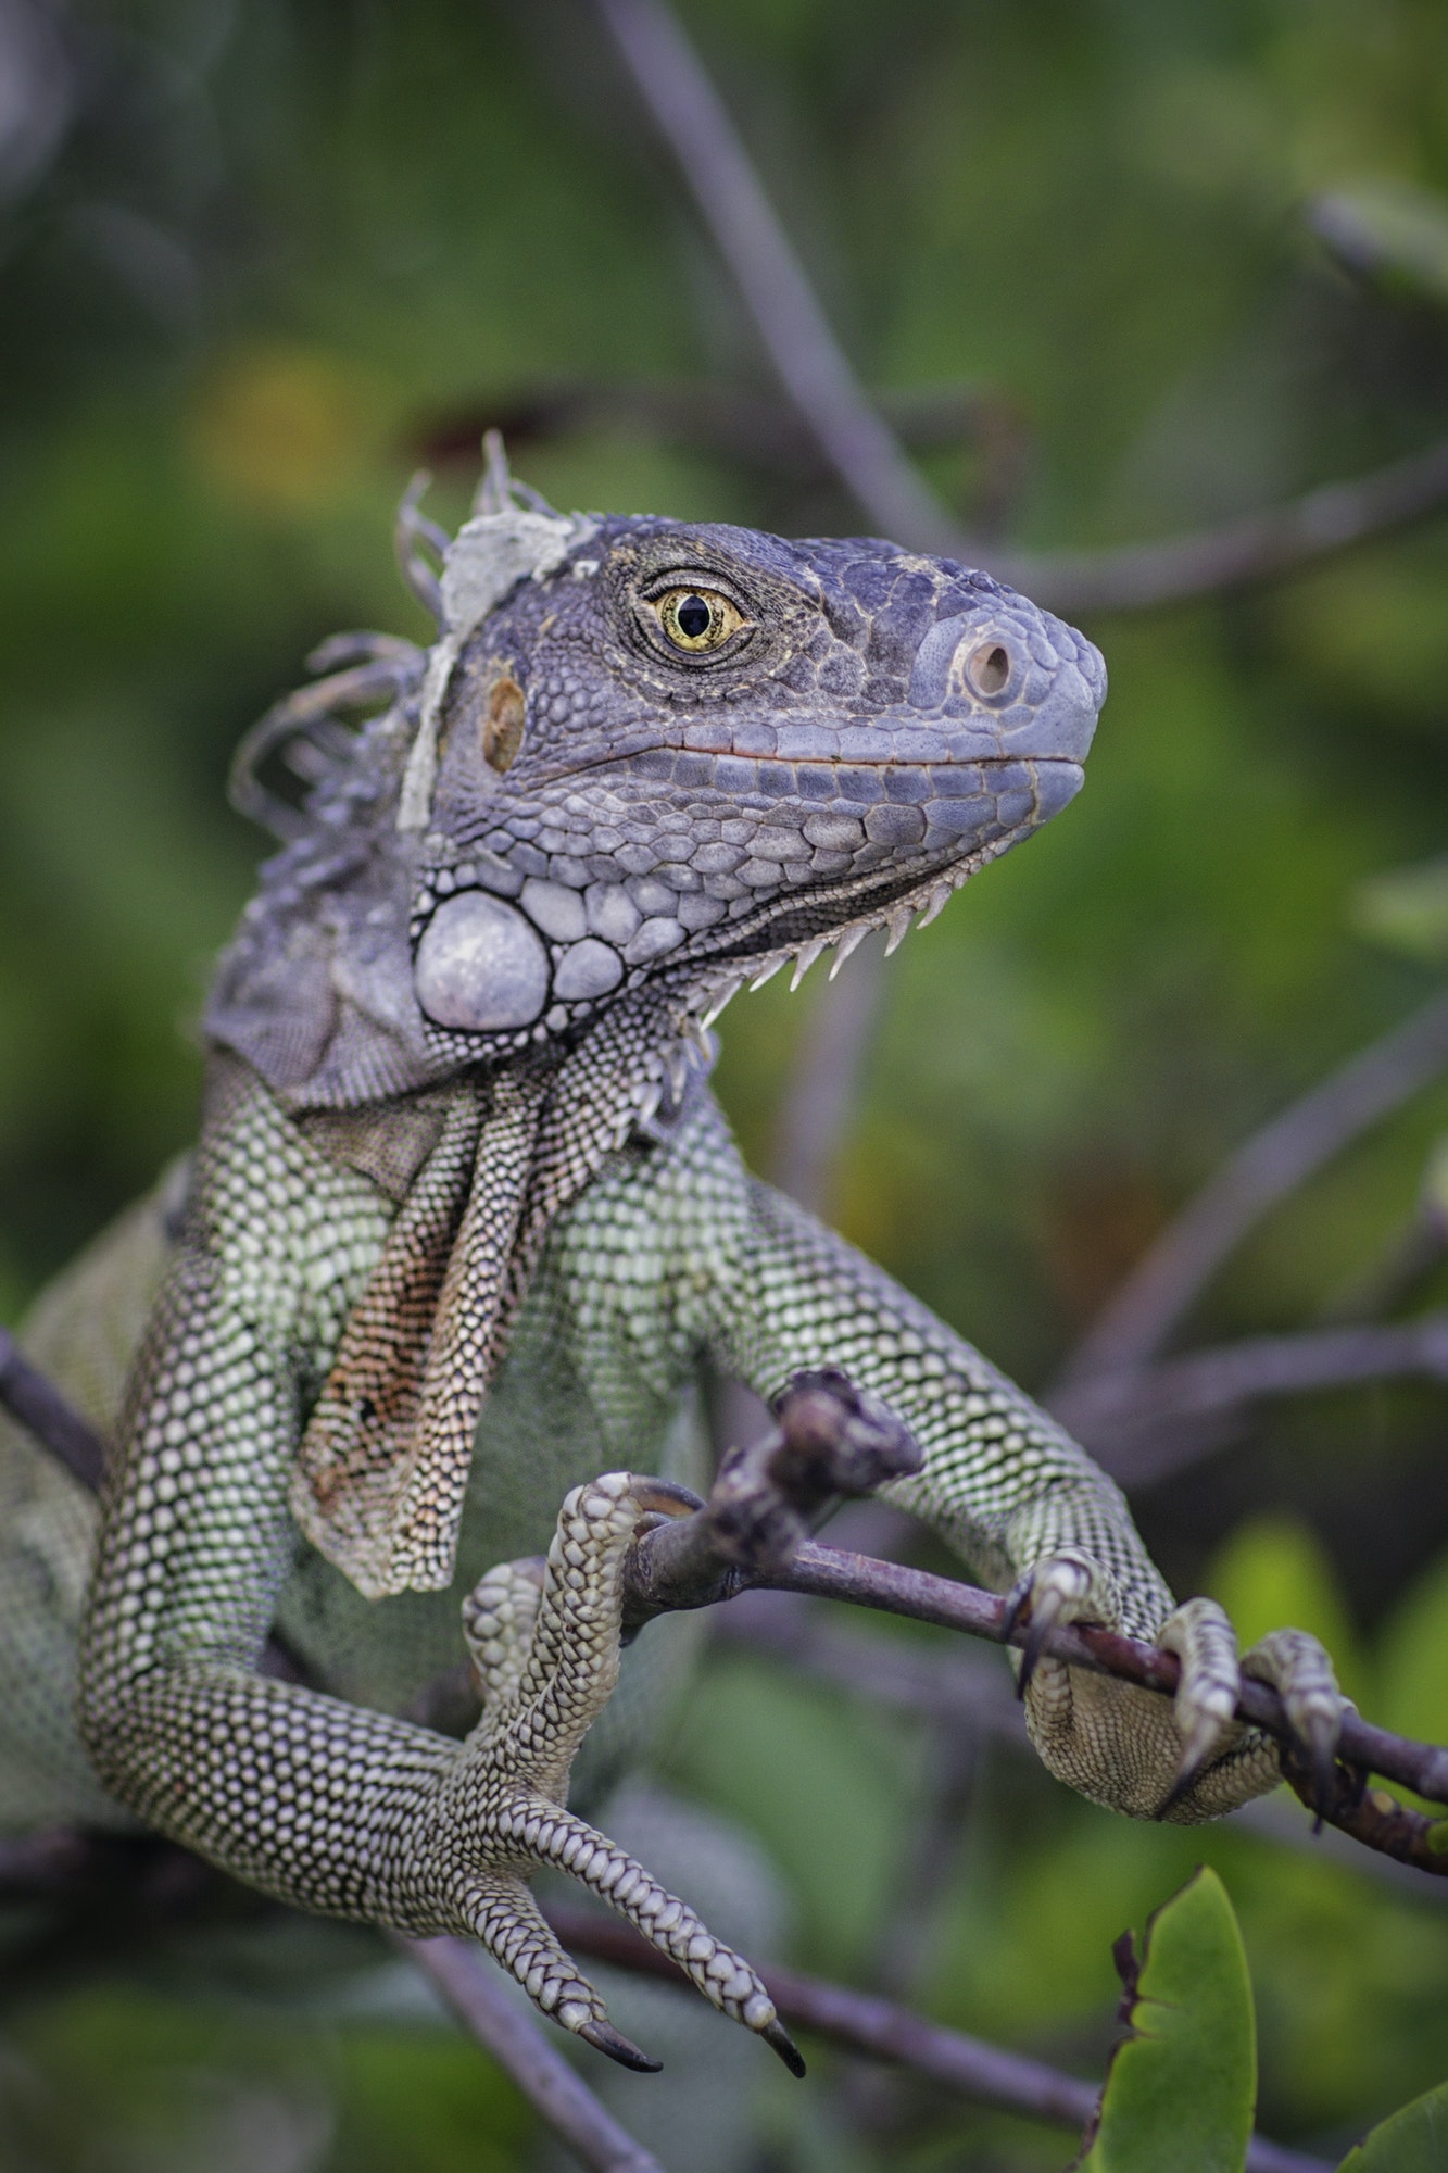
[[[554,1904],[548,1904],[546,1914],[570,1951],[689,1990],[689,1980],[678,1964],[650,1947],[633,1925],[617,1917]],[[1059,2069],[1046,2067],[1044,2060],[987,2045],[963,2030],[946,2030],[891,1999],[876,1999],[844,1984],[826,1984],[798,1969],[767,1964],[759,1975],[787,2023],[813,2030],[850,2051],[870,2053],[874,2060],[909,2067],[915,2075],[928,2075],[931,2082],[941,2082],[981,2106],[996,2106],[1028,2121],[1074,2130],[1081,2130],[1096,2112],[1098,2084],[1063,2075]],[[1246,2166],[1248,2173],[1326,2173],[1320,2158],[1305,2158],[1300,2151],[1287,2151],[1261,2136],[1252,2138]]]

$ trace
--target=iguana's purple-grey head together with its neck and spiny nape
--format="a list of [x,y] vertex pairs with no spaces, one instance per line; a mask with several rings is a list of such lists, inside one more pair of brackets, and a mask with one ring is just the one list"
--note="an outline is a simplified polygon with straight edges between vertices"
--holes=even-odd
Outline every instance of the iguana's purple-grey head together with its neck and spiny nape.
[[[276,821],[248,756],[324,726],[207,1006],[298,1108],[550,1065],[609,1021],[624,1123],[744,980],[878,926],[894,947],[1081,787],[1102,658],[989,574],[565,519],[502,476],[435,532],[433,648],[361,637],[374,663],[244,750],[239,804]],[[328,687],[389,676],[346,741]]]

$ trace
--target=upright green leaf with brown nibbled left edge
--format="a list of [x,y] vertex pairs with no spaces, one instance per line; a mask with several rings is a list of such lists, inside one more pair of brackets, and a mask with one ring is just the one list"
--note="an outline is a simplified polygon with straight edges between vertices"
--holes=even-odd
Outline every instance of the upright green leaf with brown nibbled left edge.
[[1141,1956],[1122,1973],[1133,2036],[1111,2056],[1081,2173],[1241,2173],[1257,2025],[1241,1932],[1215,1871],[1196,1871],[1148,1919]]

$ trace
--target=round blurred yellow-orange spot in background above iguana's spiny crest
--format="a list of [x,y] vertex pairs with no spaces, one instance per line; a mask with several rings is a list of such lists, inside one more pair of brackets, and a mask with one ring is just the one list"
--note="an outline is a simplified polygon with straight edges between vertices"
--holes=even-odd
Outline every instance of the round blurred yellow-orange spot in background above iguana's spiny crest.
[[189,441],[207,480],[274,511],[337,498],[374,439],[365,378],[309,348],[250,348],[202,387]]

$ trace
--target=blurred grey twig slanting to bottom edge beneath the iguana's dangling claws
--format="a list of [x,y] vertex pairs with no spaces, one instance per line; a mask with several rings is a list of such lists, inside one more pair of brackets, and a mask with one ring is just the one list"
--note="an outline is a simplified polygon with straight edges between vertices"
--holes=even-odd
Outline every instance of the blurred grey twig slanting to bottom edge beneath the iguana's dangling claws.
[[478,1947],[465,1938],[389,1938],[437,1986],[467,2034],[491,2051],[578,2164],[589,2173],[663,2173],[509,1995]]

